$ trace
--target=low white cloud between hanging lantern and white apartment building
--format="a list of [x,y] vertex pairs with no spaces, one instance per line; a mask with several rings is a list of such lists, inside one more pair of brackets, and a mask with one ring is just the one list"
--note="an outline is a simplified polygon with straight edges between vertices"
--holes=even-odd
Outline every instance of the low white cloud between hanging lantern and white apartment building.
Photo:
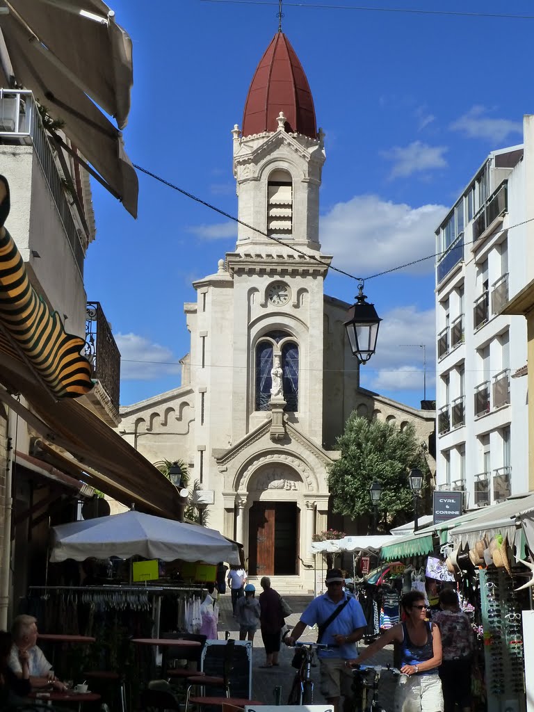
[[375,390],[419,390],[423,397],[426,347],[426,395],[433,392],[436,327],[434,309],[414,305],[397,307],[385,314],[378,332],[377,352],[360,368],[362,386]]

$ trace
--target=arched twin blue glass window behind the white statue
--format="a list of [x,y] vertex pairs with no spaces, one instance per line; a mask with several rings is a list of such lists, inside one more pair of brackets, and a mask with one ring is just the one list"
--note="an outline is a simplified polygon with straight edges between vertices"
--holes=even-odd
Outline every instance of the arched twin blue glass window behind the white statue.
[[266,334],[256,346],[256,410],[270,410],[271,388],[275,357],[280,358],[282,367],[283,397],[286,412],[298,411],[298,345],[283,331]]

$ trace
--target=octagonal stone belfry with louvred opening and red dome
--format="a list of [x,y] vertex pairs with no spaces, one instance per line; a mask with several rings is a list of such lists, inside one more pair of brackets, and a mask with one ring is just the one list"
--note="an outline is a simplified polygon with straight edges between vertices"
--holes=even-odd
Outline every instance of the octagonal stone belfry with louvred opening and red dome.
[[278,31],[254,73],[242,128],[234,135],[239,219],[236,251],[273,245],[320,250],[319,188],[325,162],[308,80],[286,35]]

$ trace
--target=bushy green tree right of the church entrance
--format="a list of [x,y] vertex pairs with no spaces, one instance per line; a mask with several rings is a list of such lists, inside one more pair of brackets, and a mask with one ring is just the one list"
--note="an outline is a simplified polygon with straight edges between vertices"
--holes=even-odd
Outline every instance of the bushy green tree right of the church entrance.
[[378,480],[382,483],[379,519],[389,524],[412,519],[409,469],[419,467],[425,476],[424,487],[429,478],[424,448],[412,424],[400,431],[396,424],[368,420],[353,412],[345,432],[337,438],[336,449],[341,457],[328,473],[334,513],[352,519],[371,514],[370,486]]

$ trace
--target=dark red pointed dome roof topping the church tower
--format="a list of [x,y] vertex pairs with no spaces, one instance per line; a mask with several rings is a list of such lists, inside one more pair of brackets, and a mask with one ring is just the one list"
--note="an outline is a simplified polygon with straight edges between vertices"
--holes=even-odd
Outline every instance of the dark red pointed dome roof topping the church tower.
[[254,73],[243,114],[242,135],[278,130],[283,111],[286,130],[317,138],[313,97],[295,50],[277,32]]

